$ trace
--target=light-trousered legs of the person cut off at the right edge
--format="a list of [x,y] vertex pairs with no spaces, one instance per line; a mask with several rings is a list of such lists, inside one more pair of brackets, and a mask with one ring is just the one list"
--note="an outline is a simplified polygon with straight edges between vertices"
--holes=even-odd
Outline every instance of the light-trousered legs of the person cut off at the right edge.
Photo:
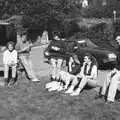
[[117,89],[120,84],[120,68],[118,65],[107,74],[102,89],[97,98],[104,98],[106,103],[114,103]]

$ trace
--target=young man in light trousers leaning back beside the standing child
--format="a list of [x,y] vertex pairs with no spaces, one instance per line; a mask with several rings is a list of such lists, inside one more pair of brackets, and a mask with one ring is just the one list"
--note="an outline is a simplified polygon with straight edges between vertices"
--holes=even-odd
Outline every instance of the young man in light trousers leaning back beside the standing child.
[[33,82],[39,82],[40,80],[37,79],[32,67],[32,61],[30,58],[31,47],[32,43],[28,41],[26,31],[23,31],[21,34],[17,34],[16,49],[19,53],[19,59],[26,70],[27,77]]

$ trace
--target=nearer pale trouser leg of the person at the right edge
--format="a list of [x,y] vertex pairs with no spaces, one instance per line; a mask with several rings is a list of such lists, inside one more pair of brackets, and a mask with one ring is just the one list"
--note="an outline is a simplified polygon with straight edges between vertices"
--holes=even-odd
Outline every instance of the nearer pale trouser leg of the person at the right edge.
[[108,97],[107,97],[108,101],[114,102],[115,95],[116,95],[116,92],[117,92],[117,89],[118,89],[119,81],[120,81],[120,75],[118,73],[118,74],[115,74],[113,76],[113,78],[110,82],[110,86],[109,86],[109,89],[108,89]]

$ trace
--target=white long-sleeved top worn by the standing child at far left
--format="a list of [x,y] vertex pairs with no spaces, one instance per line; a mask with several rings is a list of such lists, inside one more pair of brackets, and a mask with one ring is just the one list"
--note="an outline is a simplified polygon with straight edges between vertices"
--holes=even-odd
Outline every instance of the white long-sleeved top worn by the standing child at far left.
[[17,51],[13,50],[10,52],[9,50],[6,50],[3,52],[3,64],[4,65],[10,65],[10,64],[16,64],[17,63]]

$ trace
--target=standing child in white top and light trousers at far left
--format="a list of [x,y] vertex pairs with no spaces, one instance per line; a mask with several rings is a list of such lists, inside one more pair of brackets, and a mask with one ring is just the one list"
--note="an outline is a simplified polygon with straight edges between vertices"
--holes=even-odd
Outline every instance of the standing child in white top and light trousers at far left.
[[[4,64],[4,86],[12,86],[15,83],[16,67],[17,67],[17,51],[14,49],[14,42],[7,43],[7,49],[3,52],[3,64]],[[9,81],[9,68],[12,69],[12,79]]]

